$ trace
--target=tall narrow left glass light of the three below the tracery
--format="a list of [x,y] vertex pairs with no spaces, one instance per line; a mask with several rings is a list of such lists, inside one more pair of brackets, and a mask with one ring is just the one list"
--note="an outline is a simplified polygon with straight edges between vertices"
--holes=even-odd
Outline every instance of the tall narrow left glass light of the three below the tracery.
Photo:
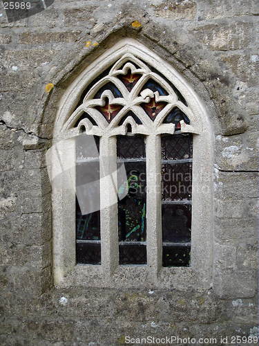
[[76,256],[80,264],[100,264],[99,137],[77,136]]

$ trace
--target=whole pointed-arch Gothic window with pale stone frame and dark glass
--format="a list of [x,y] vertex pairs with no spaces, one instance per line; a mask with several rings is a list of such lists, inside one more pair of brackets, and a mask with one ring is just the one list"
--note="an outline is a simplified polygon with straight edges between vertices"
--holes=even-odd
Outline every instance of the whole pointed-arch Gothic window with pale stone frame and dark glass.
[[56,282],[74,267],[108,286],[136,270],[163,281],[174,267],[198,264],[199,247],[204,260],[211,254],[211,232],[193,216],[211,208],[208,196],[207,206],[195,203],[201,184],[211,189],[195,177],[209,150],[199,147],[209,143],[204,109],[171,66],[134,40],[92,65],[70,86],[55,124],[63,172],[52,184]]

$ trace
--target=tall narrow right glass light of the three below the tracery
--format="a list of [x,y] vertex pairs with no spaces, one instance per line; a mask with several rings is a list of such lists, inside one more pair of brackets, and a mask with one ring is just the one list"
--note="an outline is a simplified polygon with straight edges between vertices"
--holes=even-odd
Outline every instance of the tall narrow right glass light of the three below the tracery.
[[189,266],[192,136],[191,134],[162,136],[161,147],[162,262],[163,266]]

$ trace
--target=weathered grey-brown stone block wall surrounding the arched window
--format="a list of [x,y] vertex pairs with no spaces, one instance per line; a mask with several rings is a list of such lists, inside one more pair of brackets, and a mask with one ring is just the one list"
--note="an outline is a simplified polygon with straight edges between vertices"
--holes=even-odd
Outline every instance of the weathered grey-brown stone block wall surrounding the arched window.
[[[258,336],[258,13],[256,0],[55,0],[8,23],[1,3],[1,345],[126,345],[126,336],[228,345],[231,336]],[[45,154],[57,108],[77,75],[122,37],[137,39],[182,73],[209,114],[215,145],[209,290],[52,285]]]

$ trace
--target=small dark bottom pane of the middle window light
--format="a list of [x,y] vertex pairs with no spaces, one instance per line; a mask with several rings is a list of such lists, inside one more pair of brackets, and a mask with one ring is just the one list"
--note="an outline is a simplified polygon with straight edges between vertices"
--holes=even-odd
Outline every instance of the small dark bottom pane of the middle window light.
[[146,246],[119,245],[119,264],[146,264]]

